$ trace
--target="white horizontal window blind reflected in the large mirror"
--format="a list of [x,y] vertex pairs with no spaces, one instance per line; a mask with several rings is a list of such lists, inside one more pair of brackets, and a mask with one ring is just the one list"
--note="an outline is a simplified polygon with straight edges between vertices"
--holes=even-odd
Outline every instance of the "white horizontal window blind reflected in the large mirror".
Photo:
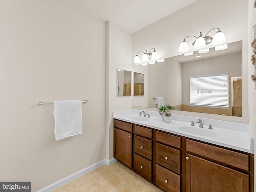
[[190,76],[190,105],[228,108],[228,74]]

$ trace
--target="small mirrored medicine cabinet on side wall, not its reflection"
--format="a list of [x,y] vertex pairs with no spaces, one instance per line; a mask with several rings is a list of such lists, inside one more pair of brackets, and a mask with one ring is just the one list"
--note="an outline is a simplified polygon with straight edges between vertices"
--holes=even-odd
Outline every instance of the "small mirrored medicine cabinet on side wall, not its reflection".
[[117,96],[132,95],[132,72],[127,70],[117,70]]

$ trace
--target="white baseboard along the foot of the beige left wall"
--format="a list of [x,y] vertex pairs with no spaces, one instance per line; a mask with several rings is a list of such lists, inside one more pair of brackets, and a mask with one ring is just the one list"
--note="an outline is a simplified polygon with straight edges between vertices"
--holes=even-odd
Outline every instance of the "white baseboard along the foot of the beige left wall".
[[94,169],[96,169],[96,168],[98,168],[98,167],[100,167],[104,164],[111,165],[114,162],[116,162],[115,158],[112,158],[110,160],[108,160],[108,159],[101,160],[100,162],[97,162],[97,163],[95,163],[95,164],[93,164],[93,165],[91,165],[87,168],[84,168],[84,169],[82,169],[82,170],[80,170],[80,171],[78,171],[78,172],[76,172],[76,173],[74,173],[70,176],[67,176],[67,177],[63,178],[62,180],[59,180],[59,181],[57,181],[53,184],[50,184],[49,186],[47,186],[45,188],[42,188],[42,189],[38,190],[37,192],[51,192],[51,191],[69,183],[70,181],[72,181],[72,180],[74,180],[74,179],[76,179],[80,176],[83,176],[84,174],[86,174],[86,173],[88,173],[88,172],[90,172],[90,171],[92,171],[92,170],[94,170]]

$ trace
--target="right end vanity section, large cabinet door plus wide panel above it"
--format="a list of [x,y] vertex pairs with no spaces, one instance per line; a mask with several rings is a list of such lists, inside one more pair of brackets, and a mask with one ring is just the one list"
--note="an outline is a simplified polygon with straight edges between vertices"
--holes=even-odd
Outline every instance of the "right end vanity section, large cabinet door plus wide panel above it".
[[248,154],[186,139],[186,192],[249,192],[249,170]]

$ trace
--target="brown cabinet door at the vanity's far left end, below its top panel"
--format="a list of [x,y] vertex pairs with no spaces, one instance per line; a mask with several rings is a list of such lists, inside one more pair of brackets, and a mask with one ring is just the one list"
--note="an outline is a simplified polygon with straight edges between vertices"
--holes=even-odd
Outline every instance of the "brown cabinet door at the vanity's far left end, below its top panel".
[[132,134],[114,128],[114,158],[132,168]]

